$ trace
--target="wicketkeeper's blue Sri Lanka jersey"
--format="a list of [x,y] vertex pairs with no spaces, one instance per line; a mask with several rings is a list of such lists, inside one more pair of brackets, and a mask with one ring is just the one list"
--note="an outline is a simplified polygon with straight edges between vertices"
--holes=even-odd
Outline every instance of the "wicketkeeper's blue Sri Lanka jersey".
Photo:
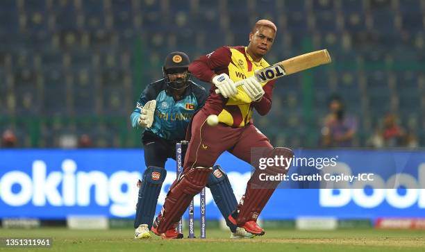
[[164,79],[149,84],[140,95],[136,108],[131,113],[131,125],[133,128],[137,128],[140,111],[144,104],[156,100],[153,124],[146,131],[151,131],[165,140],[183,140],[190,119],[197,110],[202,108],[208,94],[205,88],[194,82],[186,88],[182,99],[178,101],[166,90],[167,84]]

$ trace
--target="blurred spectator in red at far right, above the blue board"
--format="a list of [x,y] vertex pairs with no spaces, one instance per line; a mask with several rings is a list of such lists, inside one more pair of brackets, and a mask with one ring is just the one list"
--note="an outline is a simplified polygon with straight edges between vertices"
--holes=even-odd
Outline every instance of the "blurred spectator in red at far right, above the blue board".
[[408,147],[418,146],[414,134],[406,133],[397,121],[397,116],[388,113],[383,118],[383,126],[376,131],[370,140],[375,148],[382,147]]

